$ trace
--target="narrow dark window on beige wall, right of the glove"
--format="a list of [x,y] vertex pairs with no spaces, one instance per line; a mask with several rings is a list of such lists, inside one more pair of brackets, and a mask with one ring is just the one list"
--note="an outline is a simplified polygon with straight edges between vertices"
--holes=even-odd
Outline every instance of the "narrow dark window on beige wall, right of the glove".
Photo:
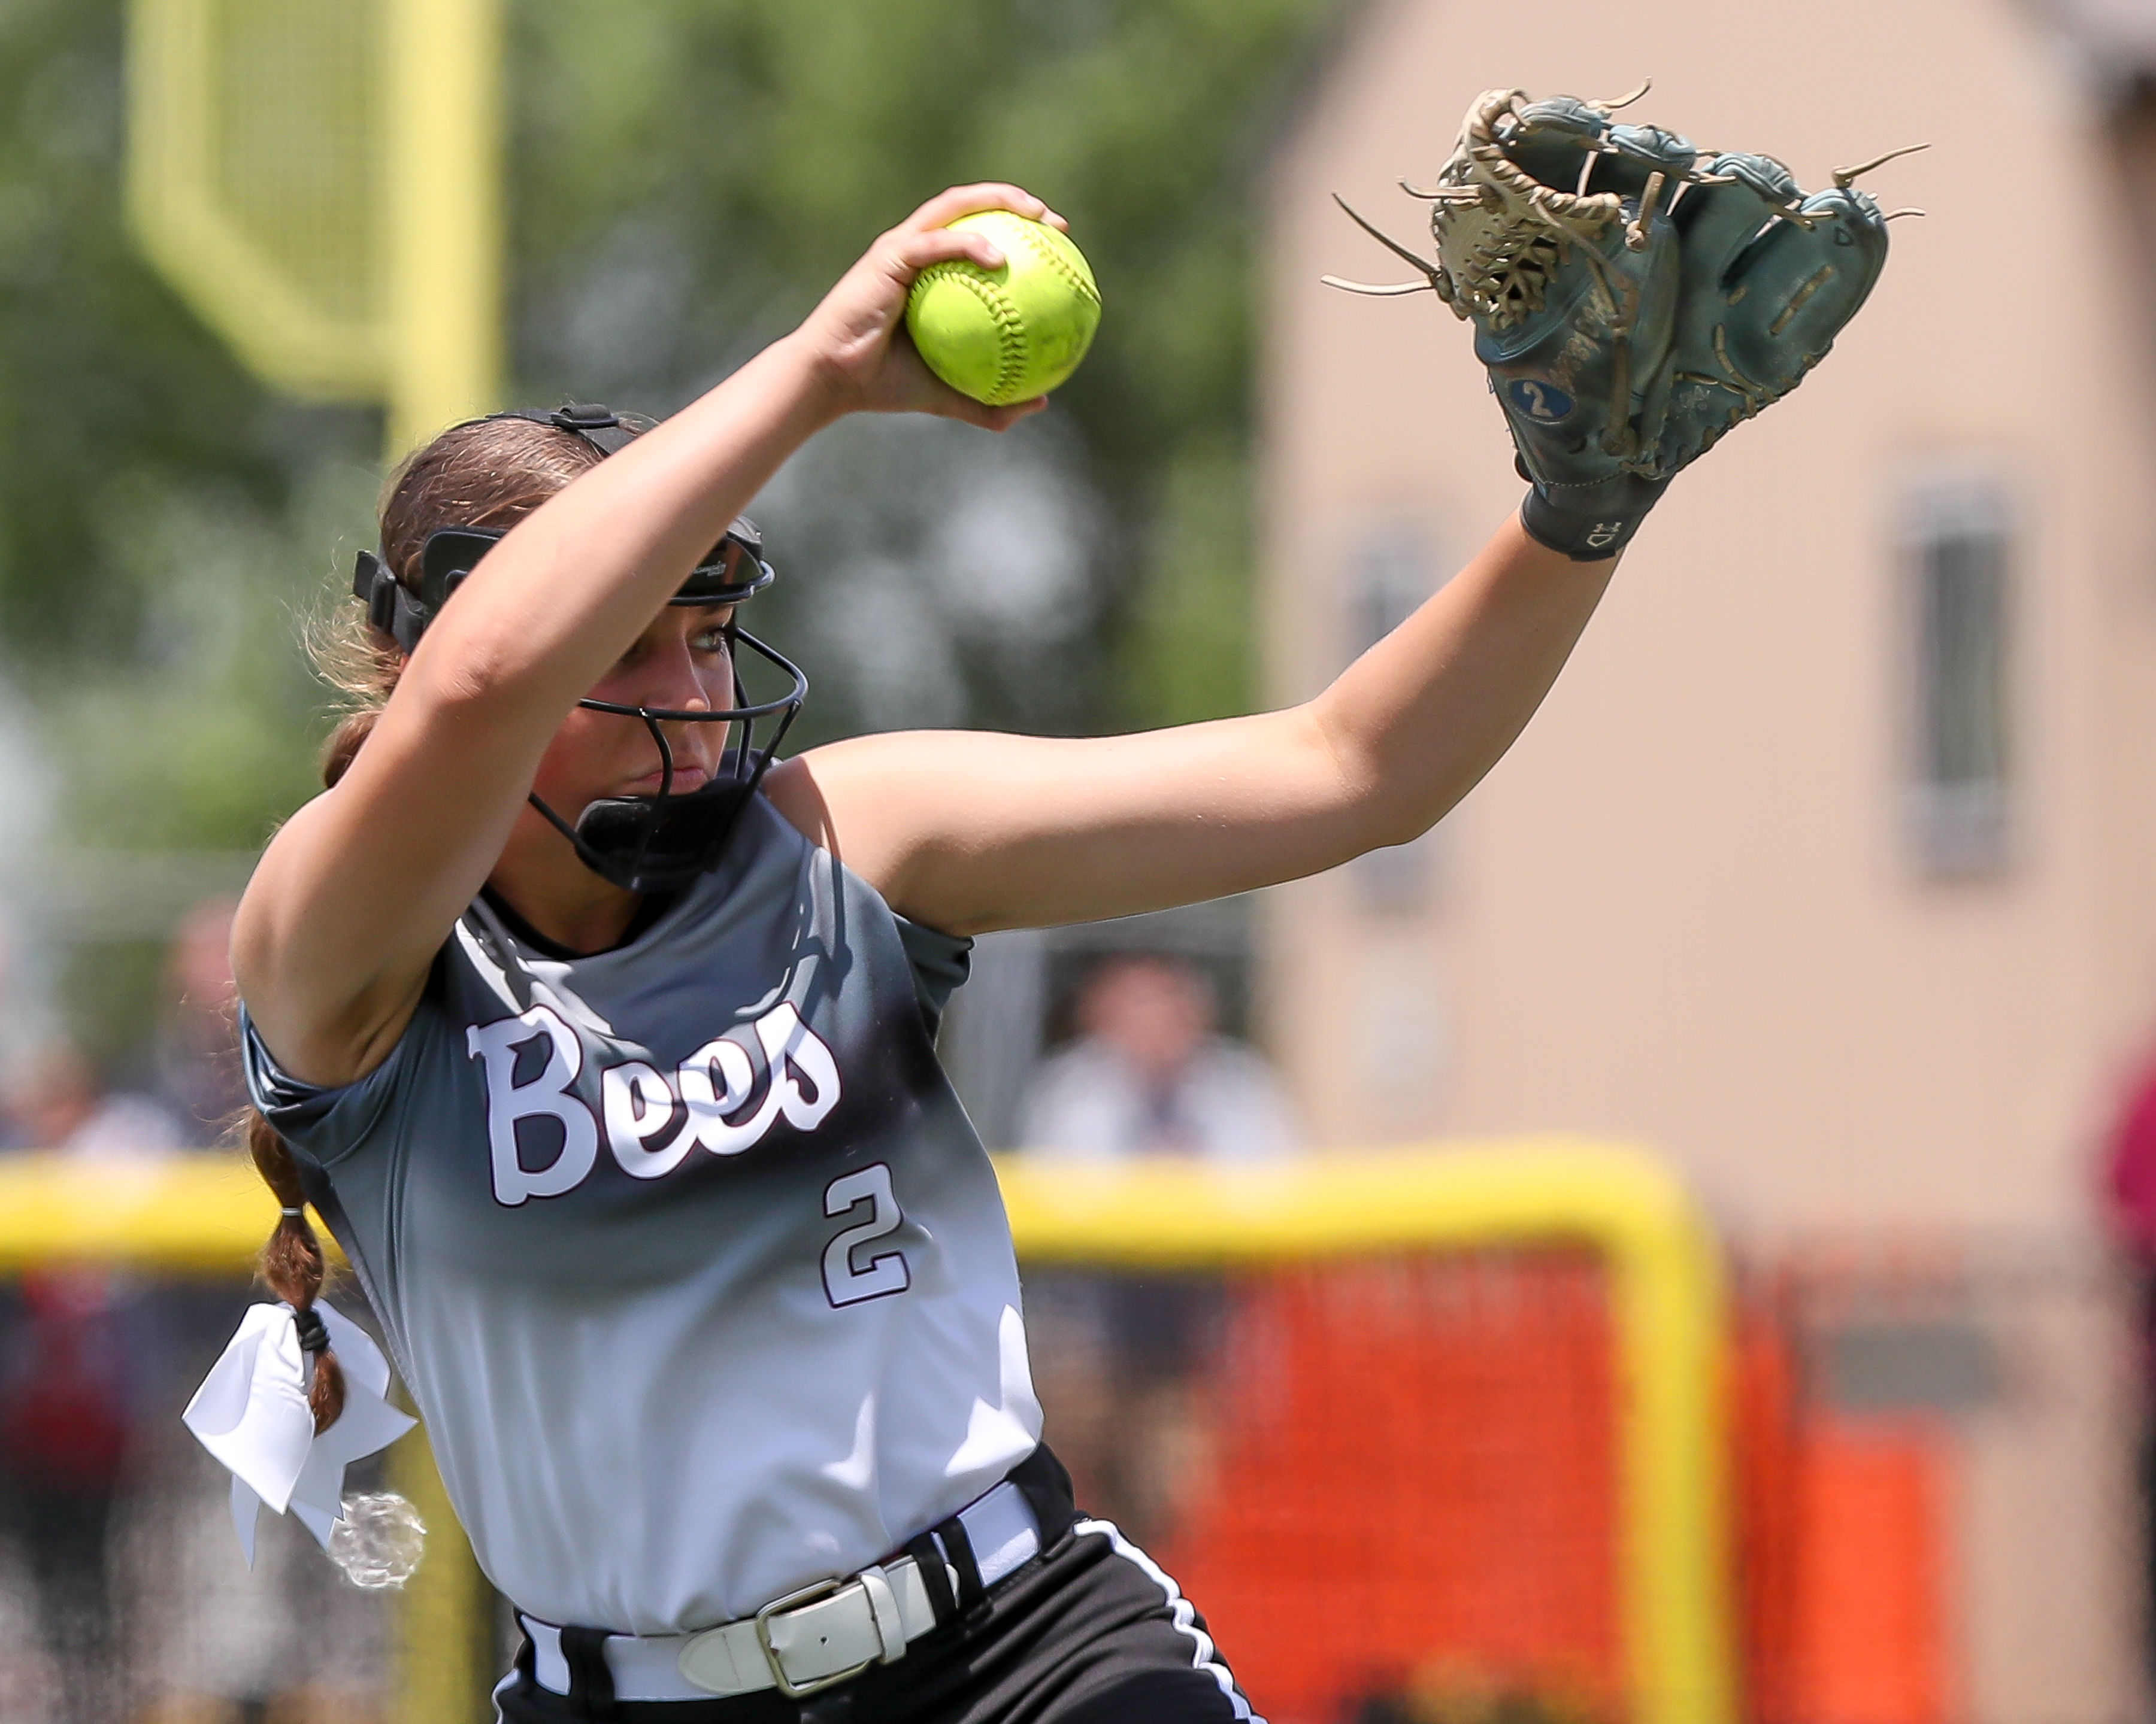
[[1917,491],[1908,541],[1912,642],[1910,840],[1932,875],[2007,862],[2012,534],[2003,487]]

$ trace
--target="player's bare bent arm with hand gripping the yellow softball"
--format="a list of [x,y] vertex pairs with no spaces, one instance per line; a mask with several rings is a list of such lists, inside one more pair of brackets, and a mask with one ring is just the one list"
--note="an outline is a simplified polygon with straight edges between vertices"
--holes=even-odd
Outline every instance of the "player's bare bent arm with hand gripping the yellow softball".
[[1037,405],[968,401],[893,340],[921,269],[1003,263],[979,231],[949,228],[977,209],[1048,213],[1013,185],[929,200],[800,330],[554,496],[472,571],[349,771],[278,832],[239,905],[233,970],[287,1071],[343,1084],[382,1062],[563,715],[808,435],[845,412],[1003,429]]

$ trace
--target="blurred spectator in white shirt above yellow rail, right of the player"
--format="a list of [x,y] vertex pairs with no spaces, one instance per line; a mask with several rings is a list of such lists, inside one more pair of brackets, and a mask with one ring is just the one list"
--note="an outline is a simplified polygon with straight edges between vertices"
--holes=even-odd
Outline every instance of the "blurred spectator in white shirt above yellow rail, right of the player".
[[1214,1034],[1205,978],[1169,957],[1115,957],[1078,996],[1078,1041],[1041,1065],[1028,1149],[1074,1159],[1194,1155],[1270,1162],[1296,1149],[1266,1060]]

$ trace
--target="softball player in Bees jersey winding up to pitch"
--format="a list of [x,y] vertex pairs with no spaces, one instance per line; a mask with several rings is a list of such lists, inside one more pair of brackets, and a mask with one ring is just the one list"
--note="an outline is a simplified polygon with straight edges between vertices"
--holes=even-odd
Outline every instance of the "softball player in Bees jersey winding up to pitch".
[[[968,937],[1330,868],[1429,828],[1595,608],[1514,519],[1309,705],[1151,735],[860,737],[772,765],[737,511],[849,412],[1000,431],[899,334],[996,267],[944,192],[630,440],[455,427],[362,558],[386,698],[235,929],[272,1284],[332,1224],[526,1646],[507,1720],[1250,1718],[1039,1446],[996,1181],[936,1065]],[[1050,218],[1054,220],[1054,218]],[[729,526],[731,524],[731,526]],[[716,547],[716,550],[714,550]],[[783,662],[778,662],[783,666]],[[796,683],[798,692],[798,683]],[[1296,1562],[1294,1549],[1279,1552]]]

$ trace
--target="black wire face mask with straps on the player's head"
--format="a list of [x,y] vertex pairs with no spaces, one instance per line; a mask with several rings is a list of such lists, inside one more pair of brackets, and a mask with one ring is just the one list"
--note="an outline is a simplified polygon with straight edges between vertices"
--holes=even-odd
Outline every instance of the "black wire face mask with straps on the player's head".
[[[636,435],[606,407],[563,407],[554,414],[515,412],[496,414],[496,418],[526,418],[573,431],[602,455],[612,455]],[[457,586],[464,584],[464,578],[500,539],[500,532],[487,528],[444,526],[429,532],[420,550],[416,595],[397,582],[379,556],[360,552],[351,590],[367,601],[367,621],[410,653]],[[744,515],[727,528],[727,537],[690,571],[690,578],[666,603],[735,606],[761,593],[772,580],[772,567],[763,560],[763,537]],[[576,705],[595,713],[642,720],[660,750],[658,795],[599,797],[578,815],[576,825],[548,808],[537,793],[530,797],[533,808],[545,815],[554,830],[576,847],[576,856],[586,868],[630,892],[673,892],[718,866],[733,823],[748,797],[757,793],[757,784],[763,782],[778,743],[785,741],[793,715],[808,696],[808,679],[800,668],[752,634],[727,623],[727,644],[729,657],[737,657],[740,649],[746,646],[774,666],[787,679],[787,692],[774,700],[752,703],[735,666],[733,705],[720,711],[668,711],[627,707],[614,700],[578,700]],[[675,759],[662,728],[666,724],[740,726],[737,735],[729,733],[718,769],[688,795],[673,793]],[[761,741],[759,726],[763,728]]]

